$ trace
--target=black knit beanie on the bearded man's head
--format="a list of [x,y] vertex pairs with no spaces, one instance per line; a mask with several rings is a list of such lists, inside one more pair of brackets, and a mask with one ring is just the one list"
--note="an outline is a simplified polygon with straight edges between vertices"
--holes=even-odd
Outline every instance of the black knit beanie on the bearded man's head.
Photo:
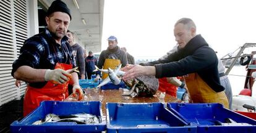
[[65,12],[66,14],[69,15],[70,20],[71,20],[71,15],[70,15],[70,10],[67,8],[67,5],[62,2],[61,0],[56,0],[51,3],[51,6],[47,10],[47,16],[53,14],[53,12]]

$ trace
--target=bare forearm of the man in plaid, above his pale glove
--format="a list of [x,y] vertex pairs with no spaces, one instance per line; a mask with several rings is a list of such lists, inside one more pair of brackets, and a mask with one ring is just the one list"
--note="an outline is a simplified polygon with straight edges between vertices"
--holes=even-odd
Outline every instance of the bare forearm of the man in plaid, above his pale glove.
[[21,66],[14,72],[14,78],[28,83],[45,82],[45,69]]

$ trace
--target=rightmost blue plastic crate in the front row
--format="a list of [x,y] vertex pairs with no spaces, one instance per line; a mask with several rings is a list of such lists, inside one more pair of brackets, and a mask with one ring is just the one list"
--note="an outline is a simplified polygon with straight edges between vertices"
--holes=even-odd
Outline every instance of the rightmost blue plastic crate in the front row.
[[168,103],[167,107],[181,119],[197,126],[197,132],[255,132],[256,121],[228,110],[220,103]]

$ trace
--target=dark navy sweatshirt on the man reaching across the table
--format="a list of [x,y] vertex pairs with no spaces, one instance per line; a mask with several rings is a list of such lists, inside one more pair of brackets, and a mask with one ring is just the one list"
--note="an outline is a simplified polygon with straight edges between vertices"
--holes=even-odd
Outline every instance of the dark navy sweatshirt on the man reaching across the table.
[[156,78],[198,73],[215,92],[224,91],[224,87],[220,84],[218,58],[200,34],[192,38],[184,48],[170,54],[165,60],[156,60],[145,65],[155,65]]

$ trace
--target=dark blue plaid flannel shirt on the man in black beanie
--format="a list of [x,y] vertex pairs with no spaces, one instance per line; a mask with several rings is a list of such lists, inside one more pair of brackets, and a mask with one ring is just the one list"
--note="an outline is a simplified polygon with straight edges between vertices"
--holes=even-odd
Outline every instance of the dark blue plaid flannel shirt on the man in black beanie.
[[[74,57],[67,36],[61,39],[61,45],[54,39],[49,30],[36,34],[27,39],[20,49],[20,56],[12,64],[12,76],[21,66],[26,65],[35,69],[53,70],[56,63],[67,63],[74,66]],[[33,83],[32,87],[43,87],[45,83]]]

